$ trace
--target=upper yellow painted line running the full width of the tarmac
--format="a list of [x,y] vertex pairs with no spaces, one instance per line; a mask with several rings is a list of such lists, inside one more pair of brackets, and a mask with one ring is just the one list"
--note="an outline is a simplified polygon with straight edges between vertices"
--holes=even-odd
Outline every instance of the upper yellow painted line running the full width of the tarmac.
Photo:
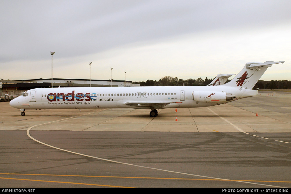
[[190,178],[165,178],[165,177],[120,177],[120,176],[93,176],[93,175],[49,175],[49,174],[22,174],[0,173],[0,175],[36,175],[36,176],[63,176],[63,177],[96,177],[96,178],[127,178],[127,179],[169,179],[169,180],[202,180],[202,181],[249,181],[249,182],[274,182],[291,183],[291,181],[264,181],[264,180],[231,180],[231,179],[190,179]]

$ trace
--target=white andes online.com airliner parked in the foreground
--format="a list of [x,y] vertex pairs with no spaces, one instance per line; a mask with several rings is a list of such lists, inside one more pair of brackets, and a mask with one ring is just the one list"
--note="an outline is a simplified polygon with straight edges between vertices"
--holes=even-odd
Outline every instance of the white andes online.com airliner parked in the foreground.
[[246,63],[233,80],[218,86],[153,86],[153,87],[73,87],[30,89],[10,101],[10,106],[25,109],[136,108],[157,109],[208,107],[240,98],[257,96],[252,90],[272,64],[285,61]]

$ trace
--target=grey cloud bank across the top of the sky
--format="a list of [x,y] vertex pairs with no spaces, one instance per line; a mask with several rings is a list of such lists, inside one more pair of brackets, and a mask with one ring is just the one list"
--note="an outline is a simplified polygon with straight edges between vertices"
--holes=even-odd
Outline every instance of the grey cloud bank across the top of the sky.
[[0,62],[92,54],[123,44],[290,23],[291,1],[1,1]]

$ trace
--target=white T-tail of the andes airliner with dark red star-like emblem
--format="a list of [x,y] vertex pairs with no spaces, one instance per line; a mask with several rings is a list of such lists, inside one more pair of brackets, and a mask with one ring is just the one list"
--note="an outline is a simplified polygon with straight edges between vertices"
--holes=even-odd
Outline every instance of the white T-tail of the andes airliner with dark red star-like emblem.
[[233,80],[226,83],[225,86],[242,87],[246,89],[253,89],[258,80],[262,77],[268,67],[272,67],[272,64],[284,63],[285,61],[266,61],[263,63],[246,63],[244,69],[242,69]]

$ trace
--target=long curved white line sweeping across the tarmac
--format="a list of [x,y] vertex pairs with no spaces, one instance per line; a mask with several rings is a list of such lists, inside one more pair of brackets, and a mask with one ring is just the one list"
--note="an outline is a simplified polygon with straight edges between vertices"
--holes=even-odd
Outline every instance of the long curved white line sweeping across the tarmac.
[[[88,113],[88,114],[92,114],[92,113]],[[82,114],[82,115],[79,115],[79,116],[84,116],[84,115],[87,115],[87,114]],[[77,116],[73,116],[73,117],[69,117],[69,118],[64,118],[64,119],[60,119],[60,120],[57,120],[57,121],[62,121],[62,120],[66,120],[66,119],[70,119],[70,118],[74,118],[74,117],[77,117]],[[51,121],[51,122],[48,122],[48,123],[53,123],[53,122],[57,122],[57,121]],[[39,125],[45,125],[45,124],[48,124],[48,123],[42,123],[42,124],[39,124]],[[118,161],[114,161],[114,160],[108,160],[108,159],[104,159],[104,158],[99,158],[99,157],[95,157],[95,156],[89,156],[89,155],[85,155],[85,154],[81,154],[81,153],[77,153],[77,152],[72,152],[72,151],[69,151],[69,150],[61,149],[61,148],[57,148],[57,147],[51,146],[51,145],[49,145],[47,143],[43,143],[41,141],[38,141],[37,139],[34,139],[29,134],[29,130],[31,130],[33,127],[39,126],[39,125],[33,125],[33,126],[29,127],[27,129],[27,131],[26,131],[27,136],[29,136],[30,139],[32,139],[32,140],[34,140],[34,141],[36,141],[38,143],[41,143],[41,144],[43,144],[45,146],[48,146],[48,147],[51,147],[51,148],[54,148],[54,149],[57,149],[57,150],[61,150],[61,151],[64,151],[64,152],[70,152],[72,154],[77,154],[77,155],[81,155],[81,156],[85,156],[85,157],[90,157],[90,158],[95,158],[95,159],[99,159],[99,160],[109,161],[109,162],[113,162],[113,163],[117,163],[117,164],[125,164],[125,165],[129,165],[129,166],[136,166],[136,167],[148,168],[148,169],[152,169],[152,170],[160,170],[160,171],[169,172],[169,173],[177,173],[177,174],[190,175],[190,176],[196,176],[196,177],[204,177],[204,178],[210,178],[210,179],[230,180],[230,179],[221,179],[221,178],[216,178],[216,177],[208,177],[208,176],[195,175],[195,174],[189,174],[189,173],[181,173],[181,172],[176,172],[176,171],[171,171],[171,170],[164,170],[164,169],[159,169],[159,168],[152,168],[152,167],[147,167],[147,166],[139,166],[139,165],[135,165],[135,164],[118,162]],[[234,180],[230,180],[230,181],[233,181],[233,182],[241,182],[241,183],[248,183],[248,184],[255,184],[255,185],[262,185],[262,186],[281,187],[281,186],[267,185],[267,184],[259,184],[259,183],[253,183],[253,182],[245,182],[245,181],[234,181]]]

